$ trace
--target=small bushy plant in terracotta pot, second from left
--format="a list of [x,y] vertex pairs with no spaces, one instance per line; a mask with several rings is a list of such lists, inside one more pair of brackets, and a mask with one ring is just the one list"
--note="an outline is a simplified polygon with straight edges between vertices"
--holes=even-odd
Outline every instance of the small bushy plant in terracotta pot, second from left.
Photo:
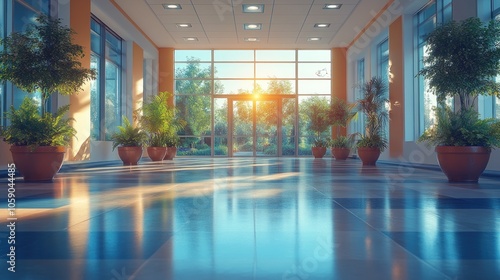
[[127,117],[123,117],[123,125],[111,135],[113,150],[118,147],[118,156],[123,165],[137,165],[142,157],[142,146],[147,134],[140,127],[134,127]]

